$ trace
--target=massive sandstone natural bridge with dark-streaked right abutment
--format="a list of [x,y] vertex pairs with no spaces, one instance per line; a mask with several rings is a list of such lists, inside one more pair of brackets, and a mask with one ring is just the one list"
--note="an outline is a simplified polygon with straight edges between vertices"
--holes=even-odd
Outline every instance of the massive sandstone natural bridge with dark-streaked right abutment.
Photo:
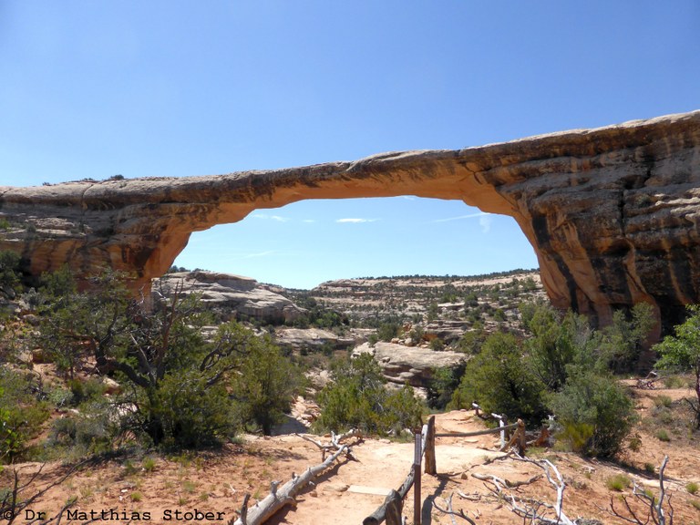
[[459,150],[180,179],[0,187],[0,250],[38,275],[164,273],[191,232],[304,199],[416,195],[514,217],[553,304],[592,314],[700,302],[700,111]]

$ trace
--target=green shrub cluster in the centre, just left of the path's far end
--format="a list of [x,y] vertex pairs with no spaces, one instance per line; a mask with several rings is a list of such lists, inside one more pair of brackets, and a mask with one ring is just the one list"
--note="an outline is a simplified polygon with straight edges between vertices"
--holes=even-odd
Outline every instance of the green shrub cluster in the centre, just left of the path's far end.
[[321,416],[317,426],[336,432],[359,428],[369,434],[413,428],[420,424],[422,407],[409,387],[390,392],[372,355],[335,365],[333,382],[318,395]]

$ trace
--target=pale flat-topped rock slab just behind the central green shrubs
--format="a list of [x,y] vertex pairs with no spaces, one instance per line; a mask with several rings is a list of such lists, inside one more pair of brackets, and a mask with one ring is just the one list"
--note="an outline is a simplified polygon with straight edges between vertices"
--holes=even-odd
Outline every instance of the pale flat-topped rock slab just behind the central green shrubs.
[[438,368],[457,368],[467,362],[459,352],[434,352],[418,346],[378,342],[359,345],[353,355],[372,354],[386,380],[399,385],[427,388]]

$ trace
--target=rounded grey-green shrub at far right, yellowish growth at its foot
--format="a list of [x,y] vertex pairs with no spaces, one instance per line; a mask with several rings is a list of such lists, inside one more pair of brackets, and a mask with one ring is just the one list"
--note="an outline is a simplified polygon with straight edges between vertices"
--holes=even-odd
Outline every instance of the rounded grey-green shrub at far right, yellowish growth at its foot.
[[588,456],[610,458],[617,454],[635,421],[633,402],[612,376],[592,370],[578,370],[561,392],[549,396],[548,405],[556,415],[563,436],[575,428],[578,437],[589,433],[581,451]]

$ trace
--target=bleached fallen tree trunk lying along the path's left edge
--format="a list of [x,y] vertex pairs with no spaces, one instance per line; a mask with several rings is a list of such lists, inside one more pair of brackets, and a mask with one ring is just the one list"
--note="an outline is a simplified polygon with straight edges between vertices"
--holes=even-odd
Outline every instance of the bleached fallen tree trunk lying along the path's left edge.
[[[335,436],[335,434],[333,434],[331,436],[330,444],[322,444],[315,439],[304,436],[300,437],[314,443],[314,445],[316,445],[318,448],[321,448],[324,458],[323,462],[319,465],[314,465],[314,467],[307,468],[300,476],[293,474],[292,479],[287,481],[282,487],[279,487],[280,481],[273,481],[271,484],[272,486],[270,493],[253,505],[250,509],[248,508],[248,500],[250,499],[250,495],[246,494],[245,498],[243,499],[241,515],[237,520],[230,520],[229,525],[260,525],[261,523],[269,520],[285,505],[293,505],[295,503],[294,496],[299,494],[307,485],[313,483],[314,479],[330,468],[335,463],[337,458],[345,456],[345,458],[356,460],[352,455],[352,449],[350,446],[340,444],[342,440],[346,438],[361,439],[360,433],[357,430],[351,430],[340,436]],[[353,445],[355,444],[356,442]],[[335,452],[328,458],[325,458],[325,454],[330,450],[335,450]]]

